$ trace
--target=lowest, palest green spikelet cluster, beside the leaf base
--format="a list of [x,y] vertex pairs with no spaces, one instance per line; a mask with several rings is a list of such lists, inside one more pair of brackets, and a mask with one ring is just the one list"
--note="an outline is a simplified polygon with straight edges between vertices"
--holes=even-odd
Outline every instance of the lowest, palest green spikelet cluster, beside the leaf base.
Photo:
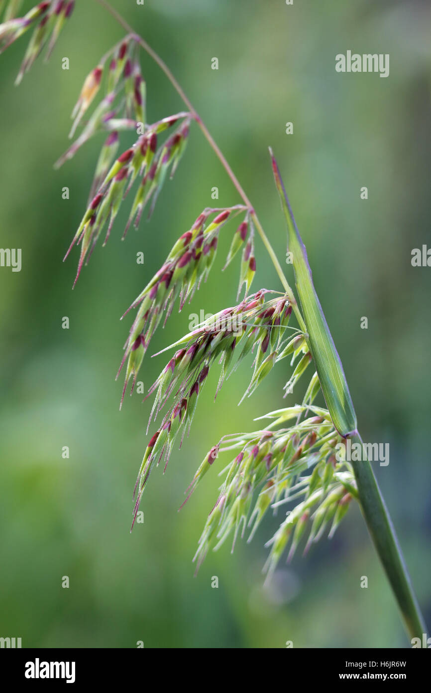
[[[308,412],[317,415],[302,419]],[[216,456],[225,450],[239,450],[239,453],[224,469],[219,498],[199,539],[194,556],[198,569],[210,547],[216,550],[233,534],[233,550],[237,537],[244,536],[246,527],[250,528],[248,541],[251,541],[269,509],[275,513],[279,506],[293,502],[286,520],[266,544],[270,547],[266,563],[270,577],[290,540],[288,561],[307,530],[309,538],[304,553],[311,543],[318,541],[329,523],[329,537],[333,536],[349,502],[357,498],[351,466],[347,462],[332,464],[333,450],[341,438],[327,410],[309,403],[267,416],[277,417],[269,430],[225,436],[212,448],[217,450]],[[282,426],[291,419],[295,419],[293,426]],[[186,500],[210,470],[214,462],[212,450],[194,475]]]

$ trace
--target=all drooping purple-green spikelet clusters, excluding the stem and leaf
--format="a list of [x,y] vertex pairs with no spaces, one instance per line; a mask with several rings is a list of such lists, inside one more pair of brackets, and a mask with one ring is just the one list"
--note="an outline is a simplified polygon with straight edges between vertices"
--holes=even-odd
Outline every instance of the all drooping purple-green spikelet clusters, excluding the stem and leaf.
[[[71,15],[74,2],[42,2],[21,19],[16,19],[19,5],[13,0],[7,3],[4,23],[0,27],[0,50],[33,27],[33,36],[17,81],[31,67],[50,36],[47,55],[51,53],[64,22]],[[103,245],[107,243],[120,206],[137,180],[138,186],[122,238],[125,238],[132,224],[138,228],[146,207],[149,207],[148,216],[152,215],[165,180],[168,175],[173,177],[183,156],[190,123],[197,121],[201,124],[199,116],[192,109],[167,116],[151,125],[147,123],[147,89],[138,55],[140,43],[134,33],[127,34],[102,56],[86,76],[71,114],[73,124],[69,137],[73,139],[76,134],[76,139],[55,164],[56,168],[62,166],[89,139],[98,134],[105,135],[87,208],[66,253],[67,257],[73,245],[80,245],[73,286],[102,234]],[[93,110],[88,116],[91,108]],[[163,138],[162,134],[171,128],[174,128],[172,134]],[[120,132],[127,130],[135,130],[137,139],[118,156]],[[277,186],[281,189],[276,166],[274,170]],[[239,185],[236,186],[241,189]],[[165,414],[147,445],[140,466],[135,486],[134,520],[154,464],[158,465],[164,459],[166,468],[176,438],[181,438],[181,446],[184,436],[189,434],[199,394],[214,363],[217,362],[220,367],[217,396],[223,382],[239,367],[241,361],[248,355],[253,356],[253,373],[242,401],[244,397],[251,396],[274,365],[286,357],[291,357],[292,372],[284,385],[284,396],[290,394],[313,360],[309,334],[303,329],[304,322],[287,283],[284,287],[286,292],[281,295],[265,289],[248,295],[256,272],[255,223],[258,222],[247,198],[245,195],[242,197],[245,205],[204,209],[192,227],[178,238],[165,263],[126,312],[131,308],[137,309],[118,371],[119,374],[127,360],[121,404],[130,382],[131,392],[134,390],[138,371],[156,328],[162,320],[166,322],[176,299],[180,310],[187,300],[192,300],[201,282],[208,278],[221,228],[233,216],[244,213],[244,219],[232,235],[223,267],[224,270],[230,265],[241,249],[237,301],[242,288],[245,288],[244,299],[232,308],[221,310],[167,347],[177,348],[177,351],[149,389],[147,396],[154,394],[154,403],[148,426],[163,409]],[[262,229],[260,233],[262,235]],[[265,242],[264,235],[263,238]],[[268,247],[268,243],[266,245]],[[293,310],[299,328],[288,325]],[[341,511],[336,507],[347,507],[345,499],[348,493],[354,495],[354,482],[347,481],[342,467],[333,462],[333,446],[339,436],[329,412],[313,405],[319,390],[320,379],[315,373],[301,406],[268,414],[269,418],[275,420],[267,430],[223,437],[205,457],[194,476],[190,493],[212,466],[220,450],[239,448],[237,457],[226,468],[221,493],[201,536],[196,554],[198,564],[214,538],[220,545],[233,530],[235,544],[239,530],[242,527],[241,534],[244,534],[247,522],[253,523],[253,536],[268,507],[277,507],[281,502],[304,496],[293,511],[291,521],[288,525],[281,525],[270,543],[271,570],[295,525],[291,556],[313,505],[317,505],[315,518],[319,518],[319,522],[322,519],[319,528],[331,514],[334,518],[338,517]],[[313,416],[302,420],[310,413]],[[286,421],[294,417],[295,424],[283,428]],[[311,475],[302,477],[311,466],[314,466]],[[345,474],[344,485],[340,477],[342,473]],[[252,509],[255,492],[257,498]],[[321,529],[318,531],[315,528],[316,521],[309,541],[320,536]]]

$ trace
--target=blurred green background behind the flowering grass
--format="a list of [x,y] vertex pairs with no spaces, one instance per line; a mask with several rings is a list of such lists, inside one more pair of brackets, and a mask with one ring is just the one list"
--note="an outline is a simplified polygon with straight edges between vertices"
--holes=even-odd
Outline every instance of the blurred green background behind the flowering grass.
[[[31,3],[28,3],[31,6]],[[113,0],[163,55],[262,220],[280,258],[285,230],[268,161],[272,146],[309,252],[365,441],[389,442],[376,468],[419,601],[431,623],[430,269],[411,250],[431,245],[430,6],[424,1]],[[181,513],[201,459],[227,432],[282,405],[282,364],[237,407],[244,364],[214,405],[215,374],[188,439],[165,475],[152,474],[131,523],[131,491],[151,404],[114,380],[130,320],[120,315],[219,188],[239,199],[192,128],[178,174],[151,222],[120,236],[129,202],[106,248],[98,246],[72,292],[77,250],[62,257],[80,222],[95,159],[93,139],[59,171],[82,81],[122,30],[95,2],[77,1],[51,62],[13,86],[26,39],[0,62],[1,247],[21,247],[22,270],[0,269],[0,635],[23,647],[402,647],[408,644],[357,507],[336,536],[283,563],[263,588],[269,517],[251,545],[191,559],[217,498],[216,469]],[[389,78],[338,74],[336,53],[389,53]],[[68,57],[71,69],[61,69]],[[219,70],[211,59],[219,59]],[[143,55],[148,119],[182,109]],[[285,134],[287,121],[294,133]],[[131,141],[122,136],[125,149]],[[121,151],[121,150],[120,150]],[[62,200],[62,187],[70,200]],[[369,199],[360,200],[367,186]],[[174,311],[150,353],[188,331],[191,312],[232,305],[239,274],[220,274],[235,226],[221,234],[208,283]],[[145,265],[136,253],[145,253]],[[287,266],[288,277],[291,267]],[[253,288],[279,289],[257,241]],[[62,317],[70,319],[63,330]],[[360,317],[367,316],[367,330]],[[166,362],[147,358],[149,387]],[[297,395],[297,398],[300,394]],[[287,402],[295,403],[291,395]],[[69,446],[70,459],[62,459]],[[226,459],[226,462],[228,459]],[[280,521],[280,517],[278,521]],[[62,576],[70,588],[62,588]],[[369,587],[360,588],[367,575]],[[211,587],[212,576],[219,588]]]

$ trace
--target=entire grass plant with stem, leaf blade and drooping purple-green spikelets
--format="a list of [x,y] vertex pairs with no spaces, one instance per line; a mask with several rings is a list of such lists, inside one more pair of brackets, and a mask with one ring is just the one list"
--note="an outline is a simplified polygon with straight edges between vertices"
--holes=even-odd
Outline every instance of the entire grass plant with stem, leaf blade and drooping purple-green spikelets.
[[[165,414],[147,445],[140,466],[134,490],[134,521],[152,468],[161,459],[166,468],[176,437],[180,436],[182,443],[188,435],[199,395],[215,362],[220,367],[217,395],[224,380],[241,360],[248,354],[253,355],[253,374],[244,397],[253,394],[275,364],[286,357],[291,357],[291,375],[284,385],[284,397],[293,390],[296,396],[298,382],[313,362],[313,376],[304,396],[299,398],[300,405],[261,417],[270,419],[265,429],[223,436],[196,471],[187,489],[187,498],[214,466],[220,453],[235,451],[234,459],[221,471],[223,484],[199,540],[195,556],[197,566],[199,568],[210,547],[217,549],[231,534],[235,546],[237,537],[244,536],[246,527],[250,529],[250,541],[269,509],[276,512],[280,506],[292,503],[286,519],[267,543],[270,552],[266,570],[270,576],[288,546],[287,559],[291,560],[305,536],[308,538],[304,541],[304,552],[327,528],[329,536],[333,536],[351,500],[356,499],[407,631],[415,637],[425,633],[426,625],[371,465],[367,460],[349,464],[335,454],[341,441],[356,439],[362,443],[362,439],[340,357],[313,285],[306,248],[272,152],[298,301],[248,196],[172,72],[144,38],[134,33],[117,10],[111,8],[108,0],[97,1],[120,23],[126,35],[86,76],[72,112],[69,137],[76,136],[76,139],[55,164],[57,168],[62,166],[89,139],[103,136],[86,211],[66,253],[67,256],[75,243],[80,244],[73,286],[102,234],[103,245],[107,243],[120,206],[134,184],[137,183],[136,192],[122,238],[132,224],[138,228],[147,207],[148,216],[152,215],[167,177],[172,178],[181,161],[192,122],[217,155],[243,203],[205,209],[192,227],[178,238],[163,266],[131,305],[130,308],[137,308],[137,313],[120,365],[121,370],[127,360],[121,402],[130,382],[133,392],[154,331],[162,320],[166,322],[176,299],[181,310],[185,301],[192,299],[201,281],[207,279],[217,252],[219,231],[233,216],[244,213],[232,235],[225,265],[229,265],[241,249],[237,305],[221,310],[172,344],[172,348],[179,349],[149,390],[149,394],[154,394],[149,423],[163,409]],[[17,83],[44,47],[46,59],[51,55],[74,5],[74,0],[40,2],[19,17],[20,0],[0,0],[3,22],[0,24],[0,53],[32,30]],[[147,89],[140,67],[140,49],[165,73],[185,104],[185,111],[147,123]],[[169,128],[173,129],[163,134]],[[123,131],[136,132],[136,141],[118,156]],[[282,294],[260,290],[249,295],[256,272],[255,231],[282,283]],[[238,304],[244,287],[244,299]],[[297,327],[288,324],[291,315]],[[324,400],[325,407],[315,405],[317,396]]]

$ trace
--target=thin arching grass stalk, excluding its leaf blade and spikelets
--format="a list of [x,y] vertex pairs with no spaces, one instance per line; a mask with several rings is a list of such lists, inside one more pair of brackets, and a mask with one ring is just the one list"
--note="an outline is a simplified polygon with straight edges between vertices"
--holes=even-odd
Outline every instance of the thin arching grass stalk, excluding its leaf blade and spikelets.
[[[255,223],[255,227],[257,228],[259,236],[262,238],[262,241],[266,247],[266,250],[268,251],[271,261],[273,262],[275,270],[278,274],[278,277],[282,282],[284,291],[286,292],[286,295],[289,301],[291,302],[292,308],[295,311],[295,317],[297,318],[298,324],[300,325],[301,330],[304,332],[304,335],[306,335],[308,341],[309,335],[307,333],[307,328],[302,317],[302,313],[300,312],[300,309],[297,306],[297,302],[293,295],[293,291],[291,290],[291,287],[289,286],[288,281],[284,276],[284,272],[274,252],[274,249],[271,246],[270,241],[268,240],[268,237],[265,234],[262,224],[259,222],[259,219],[257,218],[255,210],[253,209],[253,205],[248,199],[246,193],[244,192],[244,188],[242,188],[235,173],[233,173],[232,168],[230,168],[230,164],[226,160],[226,157],[224,157],[219,146],[214,141],[212,135],[206,127],[205,123],[203,123],[198,112],[196,112],[196,109],[190,102],[190,99],[183,91],[181,85],[178,84],[176,78],[172,74],[172,71],[169,69],[169,67],[167,67],[167,64],[164,62],[164,60],[162,60],[158,53],[156,53],[156,51],[154,51],[154,49],[152,49],[152,47],[149,46],[149,44],[147,44],[147,42],[145,41],[145,39],[143,39],[142,36],[134,32],[133,28],[131,28],[127,21],[120,15],[120,13],[117,12],[117,10],[115,10],[109,4],[109,2],[107,2],[107,0],[95,1],[98,2],[103,8],[105,8],[112,15],[112,17],[116,19],[116,21],[118,21],[118,24],[120,24],[122,28],[125,29],[127,34],[131,35],[131,37],[134,38],[134,40],[148,53],[148,55],[150,55],[150,57],[161,68],[161,70],[163,70],[165,76],[168,78],[169,82],[171,82],[174,89],[176,89],[179,96],[181,96],[181,99],[187,106],[187,109],[190,111],[192,118],[199,125],[199,128],[201,129],[201,132],[203,132],[205,139],[208,141],[210,147],[217,155],[223,168],[226,170],[226,173],[230,177],[230,180],[232,181],[232,184],[235,186],[239,196],[241,197],[241,200],[243,200],[244,204],[246,204],[247,209],[250,211],[250,216],[253,218],[253,222]],[[362,439],[360,439],[356,431],[351,431],[349,433],[349,437],[351,437],[353,440],[360,441],[360,444],[362,445]],[[374,473],[372,471],[372,466],[371,464],[369,464],[368,461],[353,462],[352,466],[354,468],[356,483],[358,485],[360,507],[363,511],[363,515],[365,517],[369,533],[372,537],[372,541],[376,548],[376,552],[380,558],[385,573],[387,574],[387,578],[389,580],[389,584],[392,587],[394,596],[396,597],[396,602],[398,604],[398,608],[401,611],[401,616],[403,618],[405,628],[407,630],[407,633],[410,634],[411,638],[420,637],[422,633],[427,632],[425,622],[423,620],[423,616],[421,615],[421,611],[419,609],[416,596],[414,595],[414,590],[412,588],[410,576],[408,574],[405,561],[403,559],[403,554],[401,552],[401,548],[398,545],[398,540],[396,538],[396,534],[394,532],[394,527],[389,517],[389,513],[385,506],[383,496],[381,495],[380,490],[378,489],[378,485],[374,477]]]

